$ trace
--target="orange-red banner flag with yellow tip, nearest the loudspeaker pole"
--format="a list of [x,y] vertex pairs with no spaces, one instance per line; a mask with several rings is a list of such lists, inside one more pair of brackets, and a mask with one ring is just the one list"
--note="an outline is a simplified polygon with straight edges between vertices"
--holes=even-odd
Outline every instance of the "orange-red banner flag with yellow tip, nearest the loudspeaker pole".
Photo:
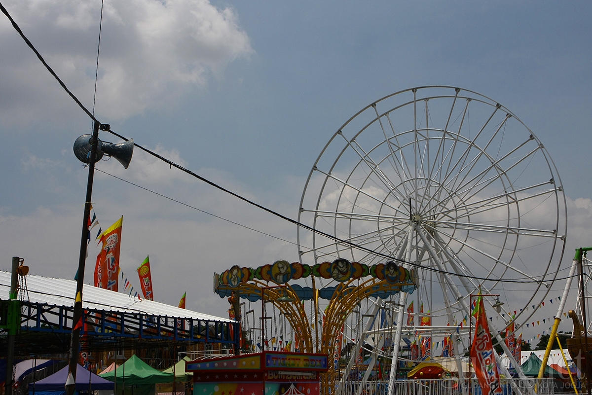
[[96,256],[95,287],[117,292],[119,249],[123,216],[101,235],[102,248]]

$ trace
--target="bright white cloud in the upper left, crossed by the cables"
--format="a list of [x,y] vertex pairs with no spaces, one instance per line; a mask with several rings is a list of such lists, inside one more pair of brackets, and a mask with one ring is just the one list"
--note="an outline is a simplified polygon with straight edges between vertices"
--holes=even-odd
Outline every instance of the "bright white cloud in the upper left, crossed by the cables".
[[[11,0],[5,7],[37,50],[92,111],[100,3]],[[125,119],[170,106],[253,52],[232,8],[203,0],[105,1],[96,114]],[[8,20],[0,21],[0,118],[56,116],[71,101]],[[8,99],[9,98],[9,99]]]

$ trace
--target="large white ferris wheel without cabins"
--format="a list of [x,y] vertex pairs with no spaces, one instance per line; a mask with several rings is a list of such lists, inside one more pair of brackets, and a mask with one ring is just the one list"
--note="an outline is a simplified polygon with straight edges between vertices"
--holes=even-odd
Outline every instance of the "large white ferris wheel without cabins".
[[424,86],[371,103],[333,134],[298,221],[301,263],[414,268],[407,303],[424,303],[432,325],[470,316],[471,295],[499,294],[500,312],[495,297],[485,307],[503,317],[501,332],[528,322],[556,279],[567,205],[545,146],[509,109]]

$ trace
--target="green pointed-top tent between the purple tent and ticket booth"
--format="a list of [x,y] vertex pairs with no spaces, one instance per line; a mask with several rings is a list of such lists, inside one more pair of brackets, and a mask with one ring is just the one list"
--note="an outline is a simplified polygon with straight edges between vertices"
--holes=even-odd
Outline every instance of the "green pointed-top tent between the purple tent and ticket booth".
[[[100,374],[102,378],[115,381],[115,370]],[[173,381],[172,373],[165,373],[150,367],[146,362],[140,360],[137,355],[117,367],[117,385],[143,386],[146,384],[170,383]]]

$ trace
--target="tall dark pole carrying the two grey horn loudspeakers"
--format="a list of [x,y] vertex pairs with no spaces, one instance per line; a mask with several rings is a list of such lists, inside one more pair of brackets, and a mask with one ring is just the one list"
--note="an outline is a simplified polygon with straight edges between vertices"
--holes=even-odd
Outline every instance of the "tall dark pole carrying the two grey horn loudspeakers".
[[[92,125],[90,164],[88,165],[88,183],[86,184],[86,200],[84,203],[84,217],[82,218],[82,237],[80,242],[80,255],[78,260],[78,276],[76,278],[76,295],[72,321],[72,338],[70,339],[70,355],[68,375],[72,375],[73,381],[66,385],[66,395],[72,395],[76,388],[76,365],[78,364],[78,348],[80,346],[80,330],[77,326],[82,318],[82,287],[84,285],[84,265],[86,261],[86,241],[88,240],[88,217],[91,213],[92,180],[95,174],[96,147],[99,140],[99,122]],[[115,360],[117,361],[117,359]]]

